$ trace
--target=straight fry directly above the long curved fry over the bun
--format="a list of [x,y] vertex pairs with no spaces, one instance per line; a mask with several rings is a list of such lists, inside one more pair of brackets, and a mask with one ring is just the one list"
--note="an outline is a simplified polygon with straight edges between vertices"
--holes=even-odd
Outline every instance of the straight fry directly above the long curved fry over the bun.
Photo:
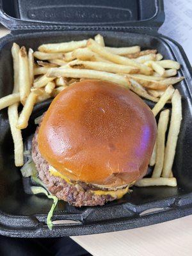
[[95,62],[95,61],[73,61],[69,63],[70,67],[82,67],[86,69],[93,69],[99,71],[106,71],[111,73],[122,73],[122,74],[129,74],[129,73],[138,73],[140,70],[135,67],[129,67],[125,65],[119,65],[115,63],[104,63],[104,62]]

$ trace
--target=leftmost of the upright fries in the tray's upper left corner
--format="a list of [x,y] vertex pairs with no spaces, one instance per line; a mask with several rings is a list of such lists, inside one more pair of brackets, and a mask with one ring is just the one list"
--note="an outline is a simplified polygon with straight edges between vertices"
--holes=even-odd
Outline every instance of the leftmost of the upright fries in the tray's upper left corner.
[[13,43],[12,46],[12,58],[13,58],[13,70],[14,70],[14,88],[13,93],[19,92],[19,45]]

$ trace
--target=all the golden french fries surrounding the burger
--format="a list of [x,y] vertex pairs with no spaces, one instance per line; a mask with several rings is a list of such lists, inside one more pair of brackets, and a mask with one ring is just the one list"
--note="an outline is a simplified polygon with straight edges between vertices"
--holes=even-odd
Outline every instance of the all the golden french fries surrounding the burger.
[[[180,64],[163,60],[156,49],[141,51],[140,46],[106,47],[101,35],[88,40],[43,44],[38,51],[12,46],[14,86],[12,94],[0,99],[0,109],[8,107],[8,118],[15,148],[15,166],[24,164],[21,130],[28,127],[29,116],[36,103],[42,102],[82,79],[101,79],[125,86],[140,97],[156,102],[152,109],[159,114],[157,140],[150,165],[151,178],[143,178],[136,186],[177,186],[172,165],[182,120],[181,97],[173,84]],[[172,114],[162,110],[172,103]],[[23,105],[18,112],[19,104]],[[166,131],[168,130],[168,138]]]

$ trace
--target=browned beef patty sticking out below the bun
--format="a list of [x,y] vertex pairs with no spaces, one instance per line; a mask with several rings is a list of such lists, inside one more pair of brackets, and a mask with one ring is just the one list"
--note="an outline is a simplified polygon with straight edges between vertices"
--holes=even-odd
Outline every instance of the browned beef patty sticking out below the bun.
[[32,141],[33,161],[35,162],[40,179],[44,182],[52,195],[56,195],[59,199],[67,201],[69,204],[77,207],[81,207],[83,205],[104,205],[106,202],[116,199],[111,195],[95,195],[90,190],[100,190],[100,188],[86,184],[85,182],[74,182],[73,184],[68,184],[65,180],[61,179],[61,177],[51,175],[49,173],[49,164],[41,156],[38,149],[37,136],[38,128],[36,129],[35,136]]

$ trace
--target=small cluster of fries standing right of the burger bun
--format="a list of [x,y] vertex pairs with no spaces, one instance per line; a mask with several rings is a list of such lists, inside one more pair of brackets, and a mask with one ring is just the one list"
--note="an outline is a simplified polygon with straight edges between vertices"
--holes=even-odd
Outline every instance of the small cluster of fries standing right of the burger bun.
[[[161,111],[166,102],[171,99],[172,115],[170,118],[170,127],[168,130],[168,137],[166,138],[166,131],[168,128],[170,110],[165,109]],[[161,112],[160,112],[161,111]],[[157,138],[152,157],[150,159],[150,166],[154,166],[152,177],[143,178],[136,182],[136,186],[177,186],[177,180],[173,177],[172,166],[175,157],[175,150],[177,146],[177,138],[180,131],[180,123],[182,120],[182,104],[179,91],[174,90],[170,85],[165,90],[157,104],[152,108],[154,116],[159,112],[159,122],[157,125]]]

